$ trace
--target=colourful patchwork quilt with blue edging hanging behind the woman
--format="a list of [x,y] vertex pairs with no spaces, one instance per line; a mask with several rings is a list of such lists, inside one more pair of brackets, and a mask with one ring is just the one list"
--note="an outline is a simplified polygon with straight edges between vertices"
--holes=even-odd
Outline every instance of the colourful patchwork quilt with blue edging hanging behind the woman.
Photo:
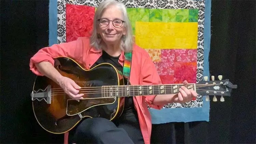
[[[49,45],[90,36],[103,0],[50,0]],[[196,83],[209,76],[211,0],[120,0],[127,7],[133,37],[151,56],[163,84]],[[148,107],[153,124],[209,121],[209,101]]]

